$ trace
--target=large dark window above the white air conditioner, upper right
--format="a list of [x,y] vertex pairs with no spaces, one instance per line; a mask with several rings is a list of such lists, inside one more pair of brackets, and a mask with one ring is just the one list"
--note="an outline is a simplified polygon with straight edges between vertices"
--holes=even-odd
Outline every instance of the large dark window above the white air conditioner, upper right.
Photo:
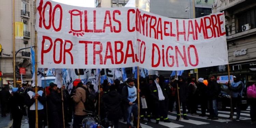
[[237,30],[236,32],[242,32],[242,26],[246,25],[246,24],[251,24],[251,29],[256,28],[255,24],[256,24],[256,7],[254,7],[251,10],[245,11],[243,13],[237,14],[237,22],[238,22],[238,26],[237,26]]

